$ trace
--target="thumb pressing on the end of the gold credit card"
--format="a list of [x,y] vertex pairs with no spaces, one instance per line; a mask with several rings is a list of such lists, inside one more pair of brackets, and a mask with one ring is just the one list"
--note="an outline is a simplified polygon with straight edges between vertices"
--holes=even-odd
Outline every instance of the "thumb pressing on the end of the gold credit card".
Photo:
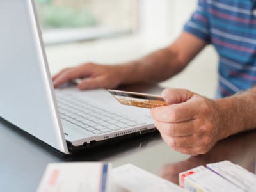
[[178,103],[186,102],[193,95],[195,95],[195,93],[190,92],[189,90],[184,90],[184,89],[168,88],[163,90],[162,92],[162,96],[168,104],[178,104]]

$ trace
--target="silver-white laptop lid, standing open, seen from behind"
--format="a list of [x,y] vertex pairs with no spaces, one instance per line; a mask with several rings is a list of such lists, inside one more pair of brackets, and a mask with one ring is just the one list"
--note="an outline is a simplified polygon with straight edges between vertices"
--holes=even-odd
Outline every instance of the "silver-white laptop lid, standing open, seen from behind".
[[0,116],[68,154],[33,0],[0,1]]

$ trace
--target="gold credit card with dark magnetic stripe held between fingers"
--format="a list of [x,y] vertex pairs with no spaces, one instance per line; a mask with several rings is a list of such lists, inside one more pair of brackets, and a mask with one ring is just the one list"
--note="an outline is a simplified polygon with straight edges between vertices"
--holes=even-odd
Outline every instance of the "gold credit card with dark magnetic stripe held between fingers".
[[155,108],[159,106],[167,106],[163,97],[145,93],[125,92],[120,90],[108,90],[115,99],[127,106],[135,106],[140,108]]

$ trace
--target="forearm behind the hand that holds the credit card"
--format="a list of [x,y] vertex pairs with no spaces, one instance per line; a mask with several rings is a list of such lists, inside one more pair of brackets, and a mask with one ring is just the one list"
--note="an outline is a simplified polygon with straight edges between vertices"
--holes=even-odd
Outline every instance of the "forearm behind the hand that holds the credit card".
[[256,128],[256,88],[216,100],[220,108],[220,139]]

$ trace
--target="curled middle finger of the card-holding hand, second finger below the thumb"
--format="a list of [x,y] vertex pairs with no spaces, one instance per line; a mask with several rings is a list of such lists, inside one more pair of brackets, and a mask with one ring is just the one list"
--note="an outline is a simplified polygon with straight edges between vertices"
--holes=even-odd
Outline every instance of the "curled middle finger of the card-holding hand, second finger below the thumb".
[[180,123],[164,123],[154,121],[156,128],[170,137],[191,136],[195,132],[195,120]]

